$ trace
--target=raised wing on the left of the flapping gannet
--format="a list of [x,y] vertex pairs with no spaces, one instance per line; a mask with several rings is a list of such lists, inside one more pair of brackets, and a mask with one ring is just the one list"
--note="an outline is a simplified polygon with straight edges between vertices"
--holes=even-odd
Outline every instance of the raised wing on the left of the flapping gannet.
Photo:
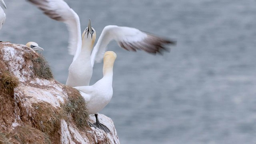
[[76,57],[76,51],[81,50],[80,20],[76,12],[64,0],[28,0],[38,6],[44,14],[54,20],[64,22],[69,31],[68,53]]

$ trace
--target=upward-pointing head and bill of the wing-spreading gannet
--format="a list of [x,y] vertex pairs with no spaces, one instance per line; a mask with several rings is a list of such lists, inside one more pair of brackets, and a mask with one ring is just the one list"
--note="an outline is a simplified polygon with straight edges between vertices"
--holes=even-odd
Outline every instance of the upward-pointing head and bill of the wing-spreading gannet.
[[82,41],[86,44],[90,44],[93,46],[96,39],[96,31],[92,28],[91,20],[89,19],[88,27],[84,30],[82,34]]

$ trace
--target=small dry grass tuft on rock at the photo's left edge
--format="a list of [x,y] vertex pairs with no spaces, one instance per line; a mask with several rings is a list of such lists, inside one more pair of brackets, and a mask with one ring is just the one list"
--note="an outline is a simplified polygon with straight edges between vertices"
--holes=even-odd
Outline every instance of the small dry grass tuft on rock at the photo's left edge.
[[10,95],[14,94],[14,88],[20,83],[19,79],[9,71],[4,71],[0,74],[0,82],[5,92]]

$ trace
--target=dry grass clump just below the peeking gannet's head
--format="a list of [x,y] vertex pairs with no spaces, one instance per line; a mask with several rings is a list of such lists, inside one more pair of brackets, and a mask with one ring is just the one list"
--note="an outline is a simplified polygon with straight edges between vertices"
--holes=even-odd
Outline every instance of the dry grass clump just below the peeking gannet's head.
[[31,60],[33,64],[33,72],[36,77],[46,80],[53,78],[52,70],[42,54],[36,56],[30,53],[24,53],[23,57],[25,60]]

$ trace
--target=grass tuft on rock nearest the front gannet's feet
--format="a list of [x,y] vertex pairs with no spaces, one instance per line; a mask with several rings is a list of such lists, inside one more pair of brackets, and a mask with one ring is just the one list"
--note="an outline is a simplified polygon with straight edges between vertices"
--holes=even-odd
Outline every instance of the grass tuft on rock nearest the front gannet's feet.
[[68,94],[68,100],[62,104],[62,108],[68,116],[72,116],[76,126],[81,130],[88,126],[89,119],[86,102],[80,92],[70,86],[64,86],[64,91]]

